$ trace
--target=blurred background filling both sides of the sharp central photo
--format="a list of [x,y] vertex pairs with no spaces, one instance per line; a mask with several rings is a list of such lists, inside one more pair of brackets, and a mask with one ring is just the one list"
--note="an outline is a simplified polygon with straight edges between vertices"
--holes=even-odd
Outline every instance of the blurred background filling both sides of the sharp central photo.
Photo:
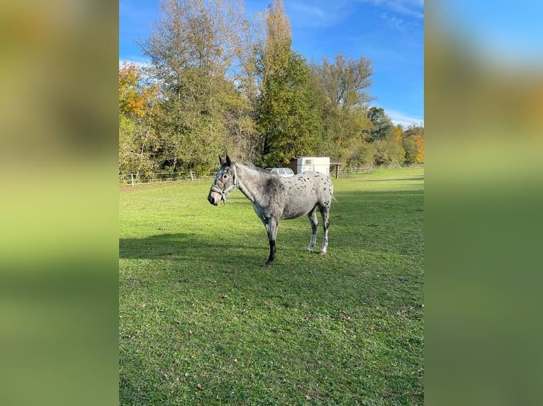
[[[543,400],[542,7],[425,7],[429,405]],[[113,404],[118,4],[7,2],[0,30],[0,402]]]

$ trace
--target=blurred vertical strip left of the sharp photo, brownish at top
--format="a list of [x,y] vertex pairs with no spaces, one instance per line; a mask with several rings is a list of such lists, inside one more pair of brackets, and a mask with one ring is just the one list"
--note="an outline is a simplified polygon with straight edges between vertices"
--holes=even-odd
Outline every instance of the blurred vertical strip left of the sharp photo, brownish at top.
[[0,403],[118,403],[118,4],[0,6]]

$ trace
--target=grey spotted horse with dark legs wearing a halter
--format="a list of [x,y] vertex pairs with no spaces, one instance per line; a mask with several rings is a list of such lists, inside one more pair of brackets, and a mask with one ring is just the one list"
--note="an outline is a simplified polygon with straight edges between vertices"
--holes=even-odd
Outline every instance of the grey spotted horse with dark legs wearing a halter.
[[266,227],[269,240],[269,257],[264,269],[271,267],[275,259],[277,228],[282,219],[298,219],[307,215],[311,224],[311,239],[306,252],[310,253],[317,241],[317,208],[323,217],[324,240],[320,255],[328,249],[330,206],[334,186],[328,175],[307,171],[290,178],[257,168],[252,163],[237,163],[226,156],[219,156],[220,169],[215,175],[208,194],[208,202],[218,206],[222,200],[239,189],[252,202],[254,212]]

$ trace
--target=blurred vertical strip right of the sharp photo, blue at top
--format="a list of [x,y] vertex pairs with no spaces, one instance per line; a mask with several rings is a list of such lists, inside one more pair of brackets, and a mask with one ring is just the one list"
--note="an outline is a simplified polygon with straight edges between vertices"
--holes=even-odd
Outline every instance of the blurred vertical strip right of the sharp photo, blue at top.
[[425,401],[541,404],[543,6],[425,6]]

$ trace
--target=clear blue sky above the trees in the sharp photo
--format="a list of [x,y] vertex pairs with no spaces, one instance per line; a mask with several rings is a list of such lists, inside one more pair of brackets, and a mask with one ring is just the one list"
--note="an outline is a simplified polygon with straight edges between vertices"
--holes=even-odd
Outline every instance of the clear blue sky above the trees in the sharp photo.
[[[271,0],[245,0],[247,16]],[[119,59],[145,62],[134,40],[150,35],[159,0],[119,1]],[[292,49],[319,62],[343,52],[373,61],[369,89],[396,124],[424,124],[424,0],[284,0]]]

